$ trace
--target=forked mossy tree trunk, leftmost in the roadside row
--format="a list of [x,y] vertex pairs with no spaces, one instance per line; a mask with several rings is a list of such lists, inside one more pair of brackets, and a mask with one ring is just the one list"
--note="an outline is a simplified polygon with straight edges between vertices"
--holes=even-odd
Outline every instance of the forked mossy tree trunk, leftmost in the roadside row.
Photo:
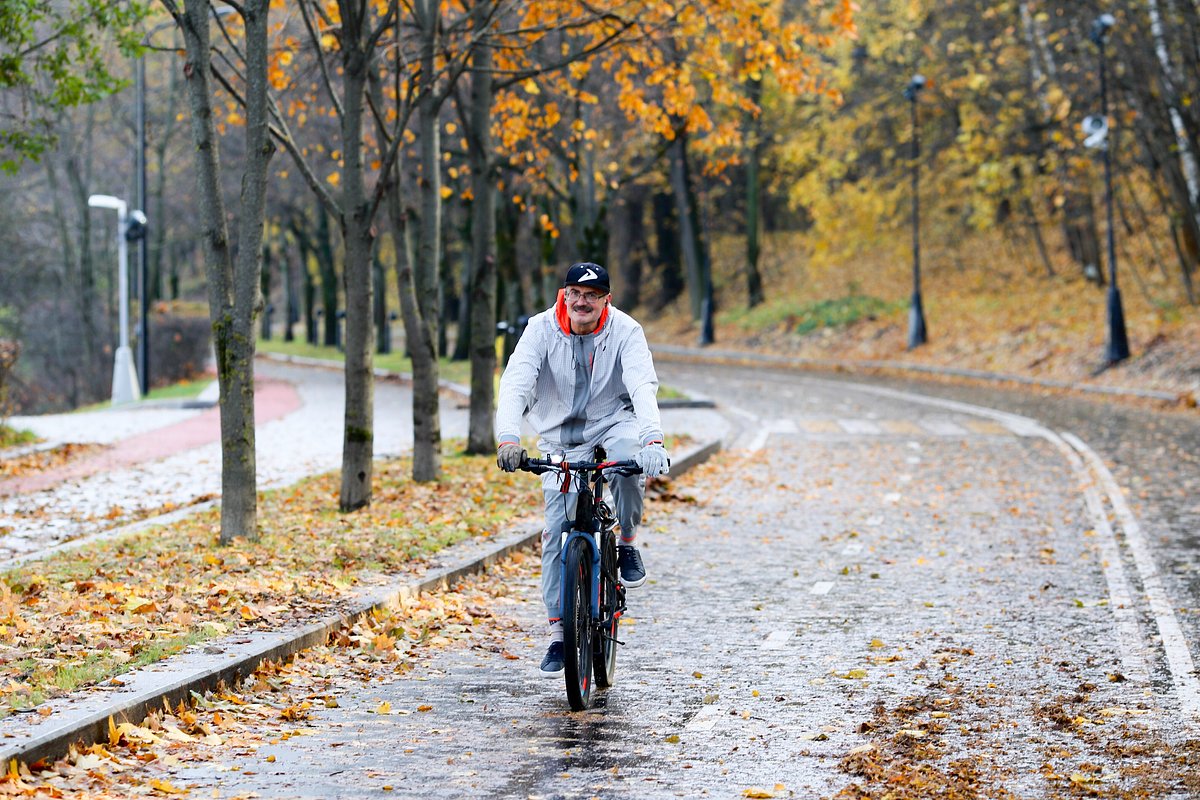
[[221,390],[221,542],[258,539],[254,461],[254,314],[262,305],[258,259],[263,241],[268,163],[274,146],[266,120],[266,17],[269,0],[246,0],[246,161],[242,168],[236,263],[229,248],[221,166],[212,116],[208,2],[180,12],[163,0],[184,29],[192,139],[209,291],[209,317]]

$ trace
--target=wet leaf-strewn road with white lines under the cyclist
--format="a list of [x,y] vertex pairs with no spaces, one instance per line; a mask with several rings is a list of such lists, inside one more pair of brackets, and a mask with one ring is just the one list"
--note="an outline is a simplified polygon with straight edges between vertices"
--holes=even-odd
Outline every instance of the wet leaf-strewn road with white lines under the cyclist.
[[[650,581],[595,710],[569,712],[535,672],[528,575],[497,601],[516,660],[456,649],[343,680],[305,735],[172,780],[226,798],[833,796],[914,780],[912,762],[1015,796],[1192,796],[1162,747],[1196,738],[1200,708],[1181,674],[1200,642],[1194,417],[922,387],[1037,429],[800,373],[660,373],[720,398],[732,432],[650,510]],[[1134,487],[1157,567],[1046,431]]]

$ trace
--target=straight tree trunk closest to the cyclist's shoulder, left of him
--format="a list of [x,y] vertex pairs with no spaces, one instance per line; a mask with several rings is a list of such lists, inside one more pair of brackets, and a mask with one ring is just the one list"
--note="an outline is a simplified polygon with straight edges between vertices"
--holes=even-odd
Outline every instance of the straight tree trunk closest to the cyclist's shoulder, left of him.
[[470,415],[467,452],[496,451],[496,192],[492,180],[492,48],[482,40],[490,2],[472,7],[475,35],[470,109],[466,115],[470,148]]

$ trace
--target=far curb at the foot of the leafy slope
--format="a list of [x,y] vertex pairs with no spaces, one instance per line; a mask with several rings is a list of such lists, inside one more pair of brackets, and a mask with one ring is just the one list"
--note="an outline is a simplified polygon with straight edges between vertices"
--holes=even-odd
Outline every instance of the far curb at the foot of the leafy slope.
[[805,359],[799,356],[775,355],[769,353],[751,353],[743,350],[714,350],[680,347],[677,344],[650,344],[650,351],[655,357],[665,356],[666,361],[692,361],[703,363],[732,363],[743,366],[770,365],[778,367],[792,367],[800,369],[828,369],[832,372],[920,372],[950,378],[972,378],[976,380],[988,380],[992,383],[1016,383],[1027,386],[1044,386],[1046,389],[1062,389],[1068,391],[1090,392],[1096,395],[1110,395],[1123,397],[1139,397],[1142,399],[1164,401],[1168,403],[1182,403],[1186,392],[1166,392],[1153,389],[1124,389],[1120,386],[1093,386],[1091,384],[1073,384],[1066,380],[1050,380],[1044,378],[1030,378],[1027,375],[1012,375],[1002,372],[985,372],[983,369],[965,369],[956,367],[938,367],[925,363],[904,363],[900,361],[835,361],[833,359]]

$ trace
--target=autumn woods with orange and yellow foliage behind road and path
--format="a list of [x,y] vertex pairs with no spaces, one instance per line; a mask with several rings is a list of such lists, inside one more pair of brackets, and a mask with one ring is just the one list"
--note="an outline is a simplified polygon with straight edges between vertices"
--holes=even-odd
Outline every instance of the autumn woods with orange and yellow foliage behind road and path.
[[[434,452],[420,456],[422,437],[440,435],[436,356],[472,359],[468,449],[491,449],[497,323],[550,305],[571,261],[608,265],[616,303],[635,315],[697,326],[706,300],[724,320],[756,306],[834,302],[851,320],[902,306],[904,89],[916,73],[928,79],[917,98],[925,246],[961,269],[1102,287],[1104,185],[1080,130],[1100,112],[1090,34],[1102,13],[1115,19],[1123,288],[1195,314],[1193,0],[83,5],[82,16],[48,0],[0,11],[0,339],[19,347],[10,410],[72,408],[110,389],[115,227],[86,198],[132,207],[139,58],[154,380],[199,368],[193,342],[210,330],[220,357],[222,319],[241,338],[270,320],[276,336],[343,348],[358,386],[347,443],[366,446],[365,373],[385,329],[402,324],[397,345],[425,404],[414,471],[426,479],[438,469]],[[211,149],[197,122],[204,97]],[[220,164],[197,158],[210,150]],[[220,290],[212,270],[226,255],[214,246],[228,246]],[[787,255],[764,270],[772,246]],[[347,492],[343,506],[364,500]]]

